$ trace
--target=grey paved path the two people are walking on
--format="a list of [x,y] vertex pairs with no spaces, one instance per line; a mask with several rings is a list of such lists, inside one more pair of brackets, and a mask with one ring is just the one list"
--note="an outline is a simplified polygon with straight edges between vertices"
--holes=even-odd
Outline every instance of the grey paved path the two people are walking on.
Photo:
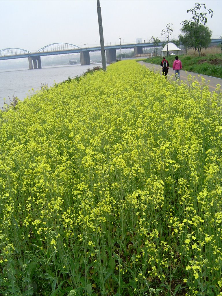
[[[152,70],[154,72],[162,73],[162,67],[159,66],[159,65],[149,64],[149,63],[145,63],[145,62],[138,62],[138,63],[141,64],[141,65],[146,66],[147,68],[149,68],[150,70]],[[173,75],[173,77],[175,77],[175,73],[174,73],[173,68],[170,68],[168,70],[168,77],[171,76],[171,75]],[[200,83],[202,83],[201,77],[204,77],[205,78],[205,83],[208,85],[210,91],[215,91],[215,88],[216,88],[217,84],[220,84],[222,86],[222,79],[221,78],[215,78],[215,77],[212,77],[212,76],[207,76],[207,75],[202,75],[202,74],[200,74],[200,77],[198,77],[199,74],[197,74],[197,73],[180,70],[180,79],[181,80],[187,81],[187,76],[188,75],[191,75],[192,77],[195,76],[196,79]],[[209,81],[209,83],[208,83],[208,81]]]

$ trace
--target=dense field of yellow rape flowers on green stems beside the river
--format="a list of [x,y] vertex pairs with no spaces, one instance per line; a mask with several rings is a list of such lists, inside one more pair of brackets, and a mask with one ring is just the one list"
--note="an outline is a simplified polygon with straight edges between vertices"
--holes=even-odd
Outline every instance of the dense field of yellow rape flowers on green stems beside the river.
[[221,115],[135,61],[0,112],[0,295],[222,295]]

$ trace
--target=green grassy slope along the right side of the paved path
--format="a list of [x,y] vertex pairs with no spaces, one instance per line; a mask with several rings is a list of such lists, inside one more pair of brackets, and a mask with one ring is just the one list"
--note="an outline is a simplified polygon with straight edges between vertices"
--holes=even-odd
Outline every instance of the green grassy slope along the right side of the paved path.
[[[222,78],[221,54],[209,54],[205,57],[191,57],[182,55],[179,58],[182,62],[183,70]],[[174,59],[175,56],[167,57],[170,67],[173,66]],[[161,57],[148,58],[145,60],[145,62],[159,65],[161,62]]]

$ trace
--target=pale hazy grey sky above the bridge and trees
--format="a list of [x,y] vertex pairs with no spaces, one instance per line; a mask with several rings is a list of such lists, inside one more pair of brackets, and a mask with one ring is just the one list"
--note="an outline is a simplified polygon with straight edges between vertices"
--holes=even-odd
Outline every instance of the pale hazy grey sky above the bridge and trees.
[[[190,20],[195,3],[205,3],[214,15],[207,17],[212,38],[222,34],[221,0],[100,0],[105,45],[162,40],[160,32],[173,23],[171,37],[181,33],[181,22]],[[201,10],[203,11],[203,10]],[[99,45],[96,0],[0,0],[0,50],[22,48],[36,52],[52,43]]]

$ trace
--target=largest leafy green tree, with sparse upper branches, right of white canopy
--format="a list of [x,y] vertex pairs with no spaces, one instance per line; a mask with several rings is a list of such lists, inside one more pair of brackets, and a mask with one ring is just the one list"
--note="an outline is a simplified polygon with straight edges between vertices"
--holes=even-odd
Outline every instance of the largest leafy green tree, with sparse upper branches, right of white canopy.
[[[201,7],[204,7],[203,12],[199,12]],[[205,4],[195,3],[194,8],[191,8],[186,11],[191,12],[193,17],[191,20],[184,20],[181,22],[183,25],[181,28],[182,35],[179,36],[179,40],[185,46],[187,51],[188,47],[194,48],[195,51],[198,50],[198,54],[200,56],[201,49],[206,48],[211,41],[212,32],[206,26],[207,24],[207,14],[210,17],[213,16],[213,10],[206,9]]]

